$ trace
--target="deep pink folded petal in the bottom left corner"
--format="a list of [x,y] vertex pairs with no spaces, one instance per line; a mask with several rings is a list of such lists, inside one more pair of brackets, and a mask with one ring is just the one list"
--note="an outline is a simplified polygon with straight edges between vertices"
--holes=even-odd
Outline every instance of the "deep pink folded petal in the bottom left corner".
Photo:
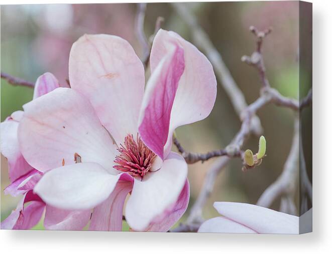
[[[30,203],[24,207],[27,202]],[[0,227],[2,229],[30,229],[39,222],[44,207],[45,203],[30,190],[18,203],[16,209],[1,222]]]

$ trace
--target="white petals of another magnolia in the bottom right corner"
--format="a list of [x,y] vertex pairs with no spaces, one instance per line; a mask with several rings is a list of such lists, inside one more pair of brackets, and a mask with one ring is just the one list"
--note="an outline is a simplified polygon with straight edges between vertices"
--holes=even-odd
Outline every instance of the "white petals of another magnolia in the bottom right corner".
[[266,207],[236,202],[214,202],[223,217],[206,220],[198,232],[299,233],[299,217]]

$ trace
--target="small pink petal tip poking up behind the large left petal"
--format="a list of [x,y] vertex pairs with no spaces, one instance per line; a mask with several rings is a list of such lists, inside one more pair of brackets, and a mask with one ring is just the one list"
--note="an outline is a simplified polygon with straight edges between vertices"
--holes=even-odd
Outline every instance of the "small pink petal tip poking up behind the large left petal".
[[36,99],[58,87],[60,87],[59,81],[54,77],[54,75],[49,72],[44,73],[43,75],[39,76],[36,81],[33,98]]

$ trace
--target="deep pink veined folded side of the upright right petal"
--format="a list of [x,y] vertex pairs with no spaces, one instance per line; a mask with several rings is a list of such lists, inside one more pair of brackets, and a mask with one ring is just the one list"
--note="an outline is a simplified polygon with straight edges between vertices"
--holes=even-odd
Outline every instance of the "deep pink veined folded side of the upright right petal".
[[184,70],[183,54],[181,47],[172,45],[152,73],[144,94],[139,132],[144,143],[161,159],[164,159],[173,101]]

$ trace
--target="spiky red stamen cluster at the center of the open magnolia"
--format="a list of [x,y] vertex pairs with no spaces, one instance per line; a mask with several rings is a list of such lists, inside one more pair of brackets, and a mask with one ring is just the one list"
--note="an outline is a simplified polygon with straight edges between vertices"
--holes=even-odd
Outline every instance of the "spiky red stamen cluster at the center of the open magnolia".
[[137,134],[136,141],[132,134],[125,137],[125,143],[118,148],[120,155],[116,156],[114,168],[129,173],[132,176],[144,175],[152,168],[157,155],[152,152]]

